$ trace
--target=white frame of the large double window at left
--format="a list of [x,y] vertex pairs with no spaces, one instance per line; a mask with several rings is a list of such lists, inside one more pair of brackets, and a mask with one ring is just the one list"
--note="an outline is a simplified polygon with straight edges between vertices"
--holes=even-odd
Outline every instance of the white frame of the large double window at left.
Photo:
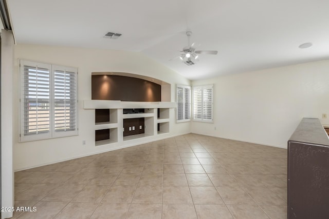
[[[25,72],[24,66],[30,67],[42,67],[47,68],[49,70],[49,131],[44,133],[35,133],[35,134],[28,134],[25,135],[25,127],[24,127],[24,89],[26,84],[24,83]],[[55,92],[55,80],[54,80],[54,72],[56,70],[65,69],[70,72],[74,72],[75,74],[75,130],[69,131],[56,131],[55,130],[55,113],[54,113],[54,92]],[[20,106],[19,106],[19,121],[20,121],[20,132],[19,132],[19,142],[30,142],[30,141],[38,141],[38,140],[46,140],[51,138],[57,137],[67,137],[67,136],[75,136],[79,134],[79,127],[78,127],[78,69],[74,67],[68,66],[61,66],[61,65],[54,65],[50,63],[42,63],[42,62],[35,62],[35,61],[28,61],[25,59],[19,59],[19,95],[20,95]]]

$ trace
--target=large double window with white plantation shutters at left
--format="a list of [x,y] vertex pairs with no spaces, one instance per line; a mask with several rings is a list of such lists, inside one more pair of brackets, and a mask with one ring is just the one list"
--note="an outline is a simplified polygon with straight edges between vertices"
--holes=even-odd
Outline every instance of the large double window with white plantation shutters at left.
[[20,141],[78,134],[77,69],[20,60]]

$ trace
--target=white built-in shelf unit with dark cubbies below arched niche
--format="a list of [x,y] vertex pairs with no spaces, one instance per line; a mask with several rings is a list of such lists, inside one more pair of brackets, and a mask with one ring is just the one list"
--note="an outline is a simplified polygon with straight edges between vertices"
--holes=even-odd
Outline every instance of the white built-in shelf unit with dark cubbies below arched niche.
[[[169,134],[170,111],[176,103],[86,100],[83,107],[95,112],[95,146],[124,147]],[[124,109],[133,110],[124,114]],[[129,120],[136,120],[136,123]]]

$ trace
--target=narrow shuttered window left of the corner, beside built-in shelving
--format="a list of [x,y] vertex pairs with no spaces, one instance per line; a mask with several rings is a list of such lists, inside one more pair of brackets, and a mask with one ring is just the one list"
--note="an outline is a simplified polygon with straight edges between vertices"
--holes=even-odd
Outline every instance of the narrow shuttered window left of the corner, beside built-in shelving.
[[191,119],[191,87],[177,85],[177,122],[188,122]]

